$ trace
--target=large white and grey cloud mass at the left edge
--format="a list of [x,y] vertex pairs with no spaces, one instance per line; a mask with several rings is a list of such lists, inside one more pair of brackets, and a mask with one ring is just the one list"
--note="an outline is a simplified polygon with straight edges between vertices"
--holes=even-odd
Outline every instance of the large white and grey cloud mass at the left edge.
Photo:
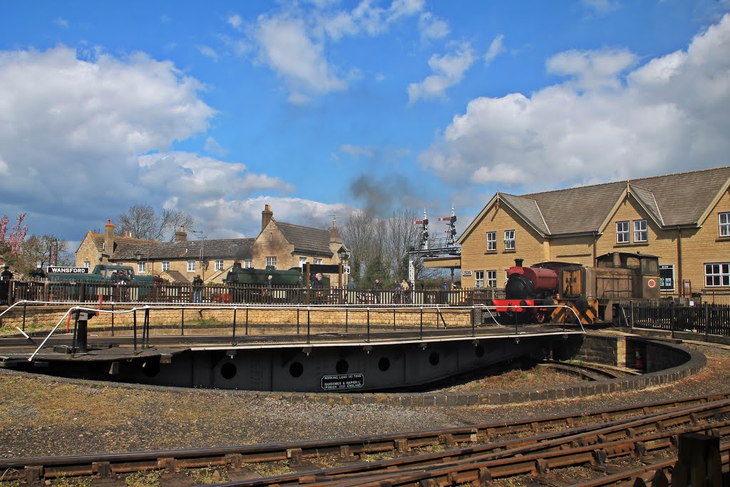
[[90,62],[65,46],[3,51],[0,85],[2,201],[76,221],[155,198],[137,184],[137,154],[205,131],[215,114],[199,82],[139,53]]

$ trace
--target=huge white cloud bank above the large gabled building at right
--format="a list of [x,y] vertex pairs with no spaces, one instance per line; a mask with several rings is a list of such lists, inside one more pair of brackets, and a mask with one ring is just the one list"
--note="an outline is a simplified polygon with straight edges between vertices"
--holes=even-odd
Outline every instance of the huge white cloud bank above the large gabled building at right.
[[687,50],[636,63],[625,50],[553,56],[565,83],[473,99],[420,160],[444,180],[514,191],[726,165],[730,15]]

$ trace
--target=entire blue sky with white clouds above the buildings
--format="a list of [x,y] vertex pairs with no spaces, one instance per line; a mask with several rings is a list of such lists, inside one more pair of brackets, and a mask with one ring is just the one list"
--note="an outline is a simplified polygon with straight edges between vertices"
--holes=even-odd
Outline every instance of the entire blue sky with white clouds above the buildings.
[[730,161],[730,1],[4,1],[0,214],[452,205]]

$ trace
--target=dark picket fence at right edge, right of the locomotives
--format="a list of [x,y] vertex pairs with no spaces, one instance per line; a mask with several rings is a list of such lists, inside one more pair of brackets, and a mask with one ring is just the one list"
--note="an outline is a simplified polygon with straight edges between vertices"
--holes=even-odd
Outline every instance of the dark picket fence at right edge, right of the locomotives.
[[730,305],[683,302],[630,302],[623,307],[629,326],[691,331],[730,337]]

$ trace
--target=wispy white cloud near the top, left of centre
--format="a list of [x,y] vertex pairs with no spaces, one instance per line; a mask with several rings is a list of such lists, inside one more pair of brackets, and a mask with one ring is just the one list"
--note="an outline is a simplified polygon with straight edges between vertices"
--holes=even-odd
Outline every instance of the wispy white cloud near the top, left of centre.
[[305,103],[312,95],[347,87],[326,61],[323,45],[307,35],[302,20],[262,17],[256,39],[261,47],[261,61],[284,78],[292,103]]

